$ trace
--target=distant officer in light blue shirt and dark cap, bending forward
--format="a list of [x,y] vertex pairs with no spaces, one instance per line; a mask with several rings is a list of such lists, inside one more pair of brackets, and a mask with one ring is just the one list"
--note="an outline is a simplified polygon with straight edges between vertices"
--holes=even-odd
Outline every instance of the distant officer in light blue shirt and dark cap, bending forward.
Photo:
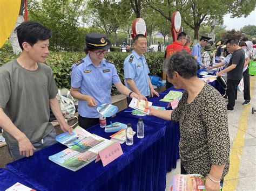
[[199,43],[197,43],[196,45],[194,45],[194,47],[192,48],[192,55],[197,56],[197,69],[200,69],[200,66],[202,68],[205,67],[204,63],[201,62],[201,47],[204,47],[208,41],[210,40],[210,37],[204,37],[202,36],[200,38]]

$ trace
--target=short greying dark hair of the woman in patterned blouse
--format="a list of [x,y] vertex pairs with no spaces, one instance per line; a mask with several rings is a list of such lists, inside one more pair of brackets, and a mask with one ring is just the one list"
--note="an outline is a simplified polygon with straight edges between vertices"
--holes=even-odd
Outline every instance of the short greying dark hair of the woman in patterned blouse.
[[184,79],[190,79],[197,76],[197,61],[186,51],[177,52],[165,60],[163,70],[171,79],[173,72],[178,72]]

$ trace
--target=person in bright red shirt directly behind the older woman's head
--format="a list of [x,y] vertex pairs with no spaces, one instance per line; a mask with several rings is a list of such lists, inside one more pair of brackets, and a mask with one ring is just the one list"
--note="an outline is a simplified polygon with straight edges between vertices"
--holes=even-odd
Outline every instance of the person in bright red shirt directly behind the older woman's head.
[[[170,55],[172,55],[175,52],[181,52],[183,49],[183,46],[187,42],[187,33],[180,32],[177,37],[177,41],[174,41],[172,44],[168,45],[165,49],[165,59],[169,58]],[[170,83],[168,80],[166,80],[165,88],[168,89],[172,87],[173,84]]]

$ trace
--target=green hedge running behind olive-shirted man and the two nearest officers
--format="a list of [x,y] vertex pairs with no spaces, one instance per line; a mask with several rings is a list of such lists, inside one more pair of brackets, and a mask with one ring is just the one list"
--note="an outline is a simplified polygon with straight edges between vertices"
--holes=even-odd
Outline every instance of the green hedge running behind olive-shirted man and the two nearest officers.
[[[6,51],[6,48],[8,51]],[[120,80],[124,83],[124,68],[123,62],[126,56],[130,53],[124,52],[109,52],[105,55],[105,58],[112,61],[117,68]],[[73,63],[84,58],[86,54],[84,52],[51,52],[46,59],[45,63],[52,68],[53,76],[55,78],[58,88],[70,88],[70,73]],[[145,53],[147,64],[149,65],[152,75],[162,75],[162,66],[164,63],[164,52],[149,52]],[[2,64],[16,59],[17,56],[10,53],[8,47],[0,49],[0,66]],[[114,86],[113,86],[114,87]],[[112,87],[112,94],[118,94],[118,91]]]

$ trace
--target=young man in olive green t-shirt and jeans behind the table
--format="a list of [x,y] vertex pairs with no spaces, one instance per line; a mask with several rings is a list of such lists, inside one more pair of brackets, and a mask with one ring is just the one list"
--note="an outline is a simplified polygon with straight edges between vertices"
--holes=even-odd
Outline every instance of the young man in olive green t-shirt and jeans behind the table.
[[24,22],[16,31],[22,53],[0,67],[0,126],[14,160],[56,143],[49,105],[60,128],[72,131],[56,99],[52,70],[43,63],[51,31],[36,22]]

